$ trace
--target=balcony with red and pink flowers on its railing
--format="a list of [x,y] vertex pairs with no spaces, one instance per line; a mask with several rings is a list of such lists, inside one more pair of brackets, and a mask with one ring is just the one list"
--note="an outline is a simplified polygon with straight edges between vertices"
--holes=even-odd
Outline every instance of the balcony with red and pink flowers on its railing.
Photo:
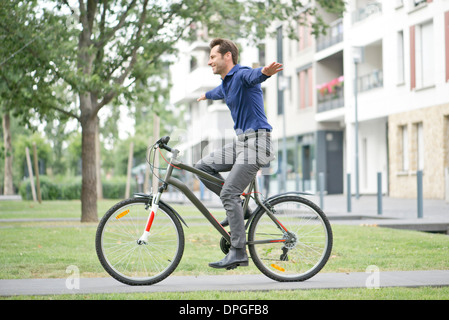
[[317,112],[325,112],[344,107],[345,99],[343,76],[335,78],[327,83],[318,85],[317,90]]

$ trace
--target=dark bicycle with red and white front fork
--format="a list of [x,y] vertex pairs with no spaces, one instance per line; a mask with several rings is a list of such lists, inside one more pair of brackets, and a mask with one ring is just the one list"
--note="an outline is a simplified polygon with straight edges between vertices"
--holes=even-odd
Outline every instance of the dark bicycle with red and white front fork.
[[[154,153],[156,149],[172,153],[170,161],[166,160],[167,171],[157,194],[134,194],[110,208],[98,225],[95,243],[101,264],[113,278],[128,285],[160,282],[181,261],[185,244],[181,223],[186,227],[187,224],[161,200],[169,185],[184,193],[222,235],[223,253],[227,254],[230,248],[229,232],[172,173],[174,169],[186,170],[213,183],[223,184],[224,181],[182,163],[178,160],[179,150],[167,145],[169,140],[170,137],[163,137],[151,147]],[[242,195],[243,212],[250,199],[257,204],[245,224],[249,256],[256,267],[273,280],[307,280],[329,259],[333,244],[330,223],[316,204],[301,196],[304,194],[287,192],[263,201],[254,179]]]

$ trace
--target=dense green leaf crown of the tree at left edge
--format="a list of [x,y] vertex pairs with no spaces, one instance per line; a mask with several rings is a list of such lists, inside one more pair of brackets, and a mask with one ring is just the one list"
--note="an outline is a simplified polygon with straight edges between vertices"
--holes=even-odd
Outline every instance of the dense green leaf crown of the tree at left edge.
[[0,111],[11,111],[28,126],[32,119],[64,116],[50,110],[68,104],[70,97],[67,86],[51,74],[50,57],[57,54],[54,42],[64,40],[63,28],[50,15],[40,14],[37,1],[0,5]]

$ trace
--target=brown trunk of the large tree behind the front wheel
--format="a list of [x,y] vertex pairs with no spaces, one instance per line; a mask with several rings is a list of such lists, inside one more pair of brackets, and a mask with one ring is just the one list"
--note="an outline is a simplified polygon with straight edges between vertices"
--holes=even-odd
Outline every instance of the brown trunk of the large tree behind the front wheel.
[[96,139],[97,117],[92,115],[89,94],[80,94],[82,110],[82,183],[81,183],[81,222],[97,222],[97,170]]

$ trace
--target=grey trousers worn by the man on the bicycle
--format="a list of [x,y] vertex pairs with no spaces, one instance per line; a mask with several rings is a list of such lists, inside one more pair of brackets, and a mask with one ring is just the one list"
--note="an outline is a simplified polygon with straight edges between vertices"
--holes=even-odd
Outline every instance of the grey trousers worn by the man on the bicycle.
[[274,159],[271,137],[268,132],[242,134],[222,149],[201,159],[195,167],[215,177],[222,178],[220,172],[229,172],[221,186],[199,179],[217,194],[226,210],[231,229],[231,246],[244,248],[246,244],[245,222],[240,196],[250,184],[261,166]]

